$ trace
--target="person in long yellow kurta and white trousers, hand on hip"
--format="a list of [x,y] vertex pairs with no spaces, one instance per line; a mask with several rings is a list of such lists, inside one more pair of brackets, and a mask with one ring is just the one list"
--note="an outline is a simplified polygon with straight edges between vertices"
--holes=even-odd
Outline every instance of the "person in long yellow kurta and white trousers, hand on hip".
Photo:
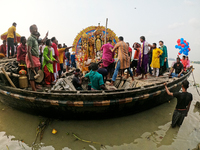
[[153,68],[153,75],[156,77],[159,76],[160,56],[162,53],[163,51],[156,47],[156,43],[153,43],[152,61],[150,66]]

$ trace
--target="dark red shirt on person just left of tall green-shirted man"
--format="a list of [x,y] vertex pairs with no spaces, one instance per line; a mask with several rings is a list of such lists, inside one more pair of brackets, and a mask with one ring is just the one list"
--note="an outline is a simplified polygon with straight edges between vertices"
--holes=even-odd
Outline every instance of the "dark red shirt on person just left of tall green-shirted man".
[[18,47],[17,47],[17,61],[20,62],[20,61],[24,61],[25,62],[25,58],[26,58],[26,53],[27,53],[27,46],[23,45],[23,44],[20,44]]

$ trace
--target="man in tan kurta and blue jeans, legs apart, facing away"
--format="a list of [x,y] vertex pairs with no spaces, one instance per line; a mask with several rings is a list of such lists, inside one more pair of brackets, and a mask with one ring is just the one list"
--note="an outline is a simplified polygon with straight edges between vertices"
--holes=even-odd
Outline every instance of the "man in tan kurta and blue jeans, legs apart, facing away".
[[120,69],[122,69],[122,70],[128,69],[128,72],[129,72],[130,76],[132,77],[132,80],[134,80],[133,73],[130,69],[130,56],[128,54],[129,47],[123,40],[124,40],[124,38],[122,36],[120,36],[119,42],[112,49],[112,52],[114,52],[115,50],[118,49],[118,61],[117,61],[117,66],[115,68],[115,72],[113,74],[112,81],[110,84],[111,86],[114,85],[114,82],[117,78],[118,71]]

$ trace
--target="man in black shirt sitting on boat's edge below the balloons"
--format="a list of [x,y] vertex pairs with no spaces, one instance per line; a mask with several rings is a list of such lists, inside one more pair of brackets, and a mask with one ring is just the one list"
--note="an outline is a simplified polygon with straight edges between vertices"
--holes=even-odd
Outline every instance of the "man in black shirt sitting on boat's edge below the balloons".
[[[173,73],[174,69],[175,69],[175,73]],[[183,75],[182,73],[183,73],[183,64],[180,62],[180,58],[178,57],[176,59],[176,63],[172,67],[171,72],[169,73],[169,77],[172,77],[172,78],[178,77],[179,78],[180,76]]]

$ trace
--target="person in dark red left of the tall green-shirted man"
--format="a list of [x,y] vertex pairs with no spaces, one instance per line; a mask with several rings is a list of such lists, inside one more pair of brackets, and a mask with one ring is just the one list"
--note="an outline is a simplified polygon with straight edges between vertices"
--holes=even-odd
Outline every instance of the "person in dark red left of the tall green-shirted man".
[[21,44],[17,47],[17,61],[20,64],[25,64],[25,58],[27,53],[26,38],[21,37]]

